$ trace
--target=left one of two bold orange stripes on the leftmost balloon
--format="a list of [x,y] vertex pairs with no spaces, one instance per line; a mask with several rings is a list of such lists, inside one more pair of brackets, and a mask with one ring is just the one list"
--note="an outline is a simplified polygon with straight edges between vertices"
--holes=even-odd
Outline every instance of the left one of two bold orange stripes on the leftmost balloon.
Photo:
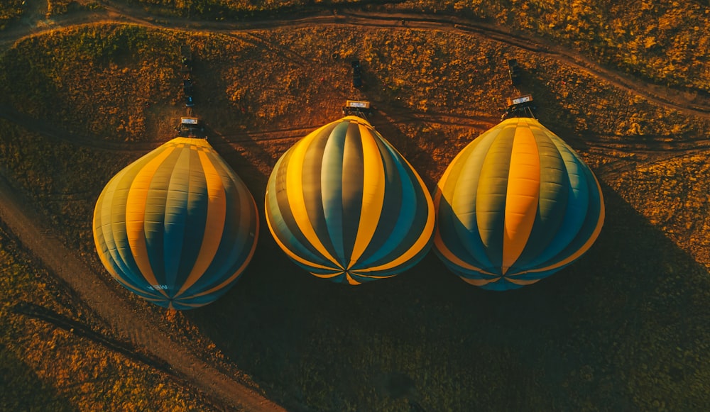
[[[153,274],[153,267],[148,260],[148,250],[146,248],[145,234],[145,216],[146,216],[146,201],[148,200],[148,189],[151,186],[151,180],[155,171],[158,170],[160,164],[175,150],[175,147],[166,147],[165,150],[159,152],[153,160],[148,162],[141,169],[136,178],[133,179],[131,188],[129,189],[128,203],[126,204],[126,235],[131,245],[133,259],[136,260],[138,269],[141,270],[143,278],[148,284],[158,284]],[[160,294],[168,297],[168,294],[163,289],[158,289]]]

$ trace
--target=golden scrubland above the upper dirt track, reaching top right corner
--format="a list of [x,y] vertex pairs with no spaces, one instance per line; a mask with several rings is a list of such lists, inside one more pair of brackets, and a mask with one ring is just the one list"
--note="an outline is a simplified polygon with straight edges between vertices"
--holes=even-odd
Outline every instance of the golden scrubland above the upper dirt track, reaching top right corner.
[[693,92],[710,92],[710,9],[701,1],[604,0],[408,0],[408,1],[226,1],[130,0],[155,12],[204,18],[250,13],[286,15],[356,6],[366,10],[416,11],[490,21],[567,45],[599,62]]

